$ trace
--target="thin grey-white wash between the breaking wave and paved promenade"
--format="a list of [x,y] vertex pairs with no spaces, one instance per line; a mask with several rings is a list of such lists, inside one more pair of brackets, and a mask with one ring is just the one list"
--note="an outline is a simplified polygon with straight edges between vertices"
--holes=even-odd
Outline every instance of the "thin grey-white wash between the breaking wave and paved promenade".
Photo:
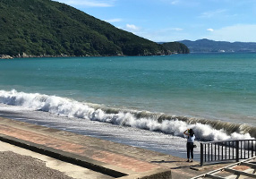
[[[174,155],[178,158],[185,156],[183,152],[185,150],[186,139],[161,132],[141,131],[141,129],[137,128],[100,123],[81,118],[72,119],[65,116],[48,114],[43,111],[31,111],[27,113],[17,109],[12,112],[0,109],[0,117],[10,118],[17,122],[38,124],[64,132],[91,136],[101,140],[118,142],[123,145],[149,149],[151,151],[165,153],[166,155]],[[149,136],[151,137],[148,138]],[[159,138],[161,138],[161,141],[158,141]],[[161,146],[166,147],[163,148]],[[197,151],[195,151],[194,156],[196,160],[199,160],[200,156]]]

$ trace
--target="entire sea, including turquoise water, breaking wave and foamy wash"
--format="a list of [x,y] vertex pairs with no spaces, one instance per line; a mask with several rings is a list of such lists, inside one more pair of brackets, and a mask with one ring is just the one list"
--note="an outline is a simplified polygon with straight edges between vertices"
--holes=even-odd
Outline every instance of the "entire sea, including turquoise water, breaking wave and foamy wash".
[[0,60],[0,116],[181,158],[189,128],[256,138],[255,108],[253,53]]

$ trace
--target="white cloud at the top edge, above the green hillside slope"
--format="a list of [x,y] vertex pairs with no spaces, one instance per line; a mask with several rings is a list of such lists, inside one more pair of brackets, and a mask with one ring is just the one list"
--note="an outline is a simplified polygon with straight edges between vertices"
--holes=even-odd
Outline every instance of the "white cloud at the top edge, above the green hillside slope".
[[113,6],[115,0],[55,0],[60,3],[69,4],[69,5],[81,5],[87,7],[110,7]]

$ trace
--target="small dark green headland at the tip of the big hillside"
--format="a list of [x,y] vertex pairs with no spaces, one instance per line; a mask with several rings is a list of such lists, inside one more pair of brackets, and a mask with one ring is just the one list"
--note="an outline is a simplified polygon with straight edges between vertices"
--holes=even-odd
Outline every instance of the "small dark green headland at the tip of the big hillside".
[[169,54],[189,54],[190,50],[183,43],[180,42],[168,42],[161,43],[166,48]]

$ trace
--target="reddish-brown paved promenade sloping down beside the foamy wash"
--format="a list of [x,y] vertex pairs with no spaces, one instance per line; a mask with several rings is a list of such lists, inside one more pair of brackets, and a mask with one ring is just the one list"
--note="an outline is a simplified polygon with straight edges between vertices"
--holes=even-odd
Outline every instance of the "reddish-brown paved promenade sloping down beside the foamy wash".
[[[151,175],[160,175],[163,172],[166,175],[170,175],[170,170],[166,166],[150,164],[147,159],[149,156],[151,159],[155,157],[167,158],[165,154],[2,117],[0,117],[0,128],[1,141],[30,149],[52,158],[68,161],[103,175],[114,177],[125,175],[143,176],[149,175],[149,173]],[[134,153],[135,150],[137,151],[136,153]],[[148,155],[145,155],[145,153]],[[110,154],[111,156],[109,156]],[[100,155],[100,158],[97,157],[98,155]],[[126,162],[128,160],[129,163]],[[183,158],[179,161],[183,161]]]

